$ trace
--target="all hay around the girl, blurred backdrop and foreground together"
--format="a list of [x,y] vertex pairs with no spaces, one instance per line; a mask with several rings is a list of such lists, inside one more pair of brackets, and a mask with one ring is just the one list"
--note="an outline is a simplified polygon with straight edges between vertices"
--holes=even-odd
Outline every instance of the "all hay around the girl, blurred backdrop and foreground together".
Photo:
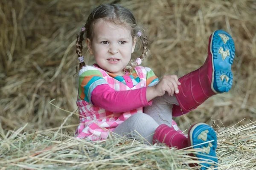
[[[186,156],[196,150],[169,150],[127,139],[90,143],[70,137],[79,122],[77,112],[67,112],[76,111],[76,33],[91,8],[111,2],[131,9],[147,28],[152,57],[143,65],[158,77],[180,77],[200,67],[212,31],[223,29],[233,36],[232,90],[176,120],[185,130],[196,122],[217,120],[229,126],[246,118],[238,123],[244,126],[217,128],[217,153],[221,169],[256,169],[255,122],[250,123],[256,121],[256,2],[244,0],[3,0],[0,168],[170,169],[198,162]],[[85,56],[92,64],[93,58]]]

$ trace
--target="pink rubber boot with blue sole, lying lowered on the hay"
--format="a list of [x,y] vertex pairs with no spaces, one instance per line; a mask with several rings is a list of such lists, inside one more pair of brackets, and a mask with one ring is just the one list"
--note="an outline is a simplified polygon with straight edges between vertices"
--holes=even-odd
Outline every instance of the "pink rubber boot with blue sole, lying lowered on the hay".
[[[208,159],[211,161],[209,161],[209,164],[203,163],[202,165],[205,167],[211,167],[214,162],[218,163],[218,159],[216,157],[217,136],[212,127],[207,124],[198,123],[192,126],[189,129],[188,138],[177,132],[173,127],[160,125],[157,127],[153,137],[153,142],[157,141],[165,143],[169,147],[177,147],[177,149],[183,149],[188,146],[204,149],[205,152],[198,153],[195,156],[202,160]],[[205,167],[201,167],[201,170],[206,169]],[[214,167],[217,167],[217,165],[214,165]]]

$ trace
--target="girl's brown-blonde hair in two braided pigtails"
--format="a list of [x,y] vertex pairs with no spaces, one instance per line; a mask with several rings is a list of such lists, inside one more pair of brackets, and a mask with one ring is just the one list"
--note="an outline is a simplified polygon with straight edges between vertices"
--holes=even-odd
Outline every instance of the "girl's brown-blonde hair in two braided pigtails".
[[[81,30],[77,35],[76,53],[78,57],[82,56],[82,41],[86,38],[89,38],[90,40],[93,39],[93,26],[100,19],[110,20],[116,25],[130,26],[132,39],[137,36],[139,31],[141,31],[142,34],[140,36],[140,40],[143,44],[143,52],[140,59],[142,61],[145,59],[148,54],[148,38],[144,29],[137,25],[135,17],[130,10],[117,4],[102,4],[93,9],[93,11],[90,13],[84,26],[85,30]],[[123,71],[131,74],[137,65],[137,62],[134,59],[131,59]],[[85,63],[81,62],[76,71],[78,72],[83,66],[85,66]]]

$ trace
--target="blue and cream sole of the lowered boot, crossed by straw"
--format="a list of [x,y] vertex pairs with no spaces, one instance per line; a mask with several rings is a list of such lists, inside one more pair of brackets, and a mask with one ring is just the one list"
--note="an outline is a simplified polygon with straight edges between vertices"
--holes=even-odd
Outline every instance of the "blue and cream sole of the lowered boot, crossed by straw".
[[199,160],[200,158],[202,161],[205,161],[205,159],[211,160],[209,161],[209,164],[201,163],[203,165],[203,167],[201,167],[201,170],[206,170],[209,167],[218,167],[216,165],[216,163],[218,163],[218,158],[216,157],[217,136],[212,127],[205,123],[195,124],[189,131],[189,139],[190,144],[191,146],[193,146],[193,148],[201,148],[205,150],[204,153],[199,152],[199,154],[195,154],[195,156],[199,158]]

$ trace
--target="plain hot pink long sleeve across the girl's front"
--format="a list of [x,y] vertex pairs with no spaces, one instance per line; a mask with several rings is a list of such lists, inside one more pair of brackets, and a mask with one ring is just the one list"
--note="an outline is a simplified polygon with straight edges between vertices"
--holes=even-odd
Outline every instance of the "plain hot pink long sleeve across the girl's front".
[[146,98],[147,88],[115,91],[109,85],[99,85],[94,89],[91,100],[93,105],[104,108],[107,111],[115,113],[131,111],[152,104],[152,100],[148,102]]

